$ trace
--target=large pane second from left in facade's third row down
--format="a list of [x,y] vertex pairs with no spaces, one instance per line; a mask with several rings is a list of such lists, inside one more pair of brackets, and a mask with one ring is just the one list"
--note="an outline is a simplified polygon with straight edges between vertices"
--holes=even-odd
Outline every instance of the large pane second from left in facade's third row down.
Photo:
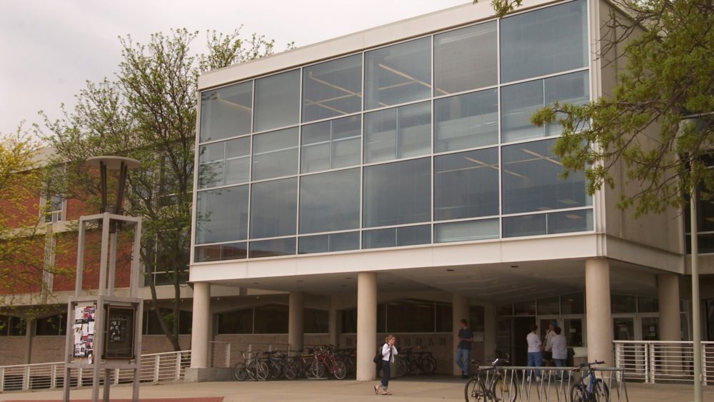
[[251,185],[251,238],[295,234],[298,179]]

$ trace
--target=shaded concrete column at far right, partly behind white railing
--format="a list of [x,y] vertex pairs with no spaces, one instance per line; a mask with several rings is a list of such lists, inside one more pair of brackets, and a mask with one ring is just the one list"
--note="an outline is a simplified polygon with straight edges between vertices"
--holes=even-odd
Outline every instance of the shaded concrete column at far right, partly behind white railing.
[[[659,273],[657,275],[657,293],[660,311],[660,341],[681,341],[679,314],[679,276],[676,273]],[[666,348],[663,360],[665,371],[678,373],[682,349],[676,345]],[[670,363],[670,364],[667,364]]]

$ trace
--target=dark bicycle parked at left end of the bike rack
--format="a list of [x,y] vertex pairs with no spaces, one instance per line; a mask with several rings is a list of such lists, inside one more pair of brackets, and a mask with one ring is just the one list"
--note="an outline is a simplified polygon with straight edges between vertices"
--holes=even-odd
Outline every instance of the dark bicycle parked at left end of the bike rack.
[[489,377],[487,375],[486,381],[481,376],[478,361],[471,361],[472,364],[476,365],[476,374],[463,387],[463,396],[466,402],[516,401],[516,398],[518,398],[518,386],[516,386],[513,373],[508,376],[502,368],[510,363],[508,361],[509,358],[508,354],[506,354],[506,358],[496,358],[493,360],[493,367],[481,370],[493,371],[493,376]]

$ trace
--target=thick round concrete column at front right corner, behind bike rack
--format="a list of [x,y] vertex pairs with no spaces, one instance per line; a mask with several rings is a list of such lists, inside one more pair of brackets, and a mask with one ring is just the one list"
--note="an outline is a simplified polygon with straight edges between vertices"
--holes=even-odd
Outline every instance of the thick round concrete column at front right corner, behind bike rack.
[[605,258],[585,260],[585,306],[588,322],[588,361],[605,361],[608,366],[613,366],[610,263]]

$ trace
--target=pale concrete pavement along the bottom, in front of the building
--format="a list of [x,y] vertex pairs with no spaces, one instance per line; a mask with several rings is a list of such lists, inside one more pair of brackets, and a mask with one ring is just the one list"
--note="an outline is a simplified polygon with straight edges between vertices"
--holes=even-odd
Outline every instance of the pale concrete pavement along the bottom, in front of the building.
[[[391,396],[376,396],[373,386],[376,381],[226,381],[213,383],[162,383],[141,386],[142,400],[156,398],[192,398],[195,402],[205,402],[207,398],[223,397],[223,402],[247,401],[453,401],[461,402],[463,385],[460,378],[433,377],[408,378],[390,381]],[[704,401],[714,401],[714,389],[706,387]],[[645,386],[638,383],[627,384],[629,400],[632,402],[693,401],[693,386]],[[71,399],[87,401],[91,398],[91,388],[71,391]],[[11,392],[0,394],[0,401],[61,401],[62,391]],[[131,386],[113,386],[111,399],[131,399]],[[100,391],[101,400],[101,391]],[[537,401],[537,398],[533,399]],[[214,400],[215,401],[215,400]],[[613,398],[615,401],[615,398]]]

